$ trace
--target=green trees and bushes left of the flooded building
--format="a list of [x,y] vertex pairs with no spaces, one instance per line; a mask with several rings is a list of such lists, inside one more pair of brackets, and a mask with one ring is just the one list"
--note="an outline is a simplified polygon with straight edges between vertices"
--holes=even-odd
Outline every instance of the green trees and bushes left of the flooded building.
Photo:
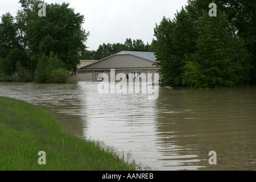
[[[16,16],[0,23],[0,81],[67,82],[77,73],[89,32],[84,16],[69,7],[39,0],[20,0]],[[39,16],[46,5],[46,16]]]

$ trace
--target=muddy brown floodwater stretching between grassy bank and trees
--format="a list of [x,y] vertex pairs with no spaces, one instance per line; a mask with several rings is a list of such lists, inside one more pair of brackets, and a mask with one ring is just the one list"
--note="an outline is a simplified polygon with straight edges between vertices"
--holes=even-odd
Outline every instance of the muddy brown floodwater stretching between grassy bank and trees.
[[[131,152],[157,170],[255,170],[256,86],[146,94],[99,94],[98,82],[0,83],[0,96],[64,117],[77,137]],[[215,151],[216,165],[210,165]]]

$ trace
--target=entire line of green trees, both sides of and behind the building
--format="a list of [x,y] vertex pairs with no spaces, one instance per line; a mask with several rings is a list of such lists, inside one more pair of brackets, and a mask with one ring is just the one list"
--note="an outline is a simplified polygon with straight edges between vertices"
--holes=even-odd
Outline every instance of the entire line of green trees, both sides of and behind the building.
[[[127,38],[88,51],[84,16],[68,3],[47,5],[20,0],[14,17],[1,16],[0,81],[63,82],[82,60],[101,60],[120,51],[155,52],[160,84],[222,88],[256,81],[256,31],[253,0],[188,0],[174,19],[155,25],[151,44]],[[209,16],[216,3],[217,16]],[[15,75],[13,74],[15,73]],[[64,78],[61,80],[61,78]]]

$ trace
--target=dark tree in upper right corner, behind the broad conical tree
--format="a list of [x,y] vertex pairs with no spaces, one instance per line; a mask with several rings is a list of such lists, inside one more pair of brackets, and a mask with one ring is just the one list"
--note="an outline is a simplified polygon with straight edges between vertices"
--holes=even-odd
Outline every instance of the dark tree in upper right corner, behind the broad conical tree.
[[[197,21],[204,11],[209,11],[212,0],[188,0],[186,9],[193,20]],[[251,61],[250,80],[256,81],[256,4],[254,0],[215,0],[217,10],[228,15],[229,23],[234,26],[233,33],[245,41]],[[203,10],[203,11],[202,11]]]

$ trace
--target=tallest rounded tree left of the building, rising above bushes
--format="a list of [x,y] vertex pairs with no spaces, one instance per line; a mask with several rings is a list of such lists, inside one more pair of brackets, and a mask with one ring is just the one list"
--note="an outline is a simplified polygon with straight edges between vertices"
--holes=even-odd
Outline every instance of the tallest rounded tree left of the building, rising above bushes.
[[53,51],[63,61],[64,68],[75,74],[80,64],[79,55],[86,48],[85,42],[89,35],[82,28],[84,16],[69,8],[69,3],[63,3],[46,4],[46,17],[39,17],[39,2],[20,1],[23,12],[19,15],[23,17],[19,19],[26,23],[23,31],[28,40],[33,67],[36,69],[42,54],[49,56]]

